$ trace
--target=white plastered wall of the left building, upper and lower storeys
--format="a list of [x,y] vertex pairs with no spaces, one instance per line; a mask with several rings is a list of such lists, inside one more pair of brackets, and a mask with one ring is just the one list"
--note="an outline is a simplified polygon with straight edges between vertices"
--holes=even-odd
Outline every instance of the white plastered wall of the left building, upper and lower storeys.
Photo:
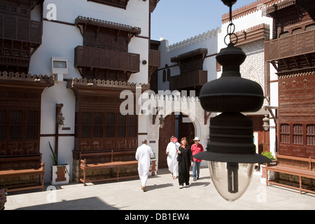
[[[51,8],[52,6],[52,8]],[[32,11],[32,20],[40,20],[40,6]],[[53,16],[55,18],[53,18]],[[65,57],[68,62],[68,74],[64,78],[81,78],[78,69],[74,67],[74,48],[83,45],[83,36],[80,29],[74,26],[79,15],[84,17],[116,22],[132,27],[140,27],[139,37],[134,36],[128,51],[140,54],[140,71],[130,76],[130,83],[148,83],[148,63],[142,64],[143,60],[148,62],[149,46],[149,1],[132,0],[127,8],[116,8],[106,6],[92,1],[78,0],[46,0],[43,3],[43,38],[41,46],[34,52],[29,65],[29,73],[52,75],[51,57]],[[52,20],[53,18],[53,20]],[[66,88],[66,82],[55,83],[47,87],[42,93],[41,99],[41,153],[45,162],[45,182],[50,181],[50,149],[55,148],[55,120],[56,104],[64,104],[62,113],[65,118],[64,126],[70,130],[59,130],[59,163],[70,165],[72,172],[72,151],[74,148],[74,117],[76,97],[72,90]],[[139,124],[146,124],[143,118]],[[146,132],[144,125],[139,125],[139,132]],[[62,136],[69,134],[70,136]],[[140,141],[141,142],[141,141]]]

